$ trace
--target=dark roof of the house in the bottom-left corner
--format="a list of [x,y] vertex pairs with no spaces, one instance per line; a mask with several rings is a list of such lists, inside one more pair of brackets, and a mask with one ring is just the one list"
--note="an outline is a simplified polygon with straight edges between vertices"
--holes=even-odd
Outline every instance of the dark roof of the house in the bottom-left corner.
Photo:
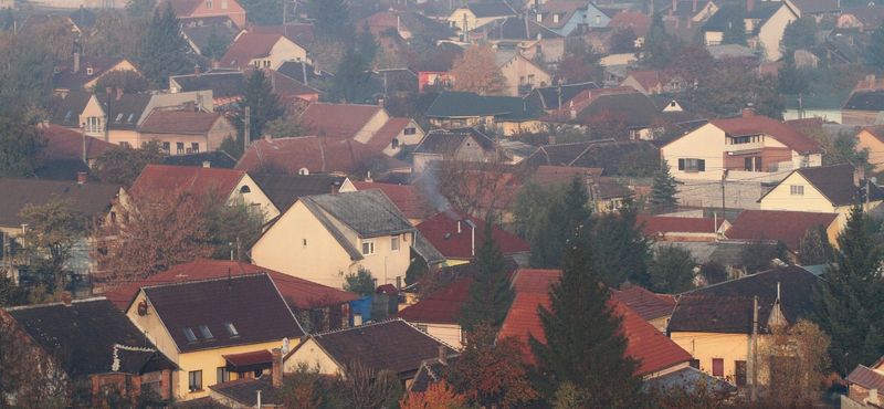
[[[141,375],[175,368],[126,315],[104,297],[7,308],[8,313],[71,376]],[[133,348],[118,348],[122,345]],[[114,355],[119,368],[113,369]]]

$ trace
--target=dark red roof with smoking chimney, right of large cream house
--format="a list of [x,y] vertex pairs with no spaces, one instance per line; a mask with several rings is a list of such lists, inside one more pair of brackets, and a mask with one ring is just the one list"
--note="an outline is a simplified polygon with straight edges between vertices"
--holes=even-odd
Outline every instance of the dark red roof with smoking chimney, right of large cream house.
[[[485,222],[470,217],[460,210],[442,211],[418,224],[418,231],[433,244],[445,259],[473,259],[473,232],[462,220],[470,219],[476,224],[475,248],[482,245]],[[457,226],[460,223],[460,231]],[[530,251],[530,244],[518,237],[494,227],[494,238],[501,245],[505,255],[525,253]]]

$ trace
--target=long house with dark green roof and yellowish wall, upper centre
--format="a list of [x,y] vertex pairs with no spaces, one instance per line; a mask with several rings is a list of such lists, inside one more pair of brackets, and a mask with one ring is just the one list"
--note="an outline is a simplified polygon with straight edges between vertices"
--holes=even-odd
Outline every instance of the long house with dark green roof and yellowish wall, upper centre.
[[424,116],[441,128],[488,126],[502,135],[540,129],[545,112],[516,96],[490,96],[469,92],[425,94]]

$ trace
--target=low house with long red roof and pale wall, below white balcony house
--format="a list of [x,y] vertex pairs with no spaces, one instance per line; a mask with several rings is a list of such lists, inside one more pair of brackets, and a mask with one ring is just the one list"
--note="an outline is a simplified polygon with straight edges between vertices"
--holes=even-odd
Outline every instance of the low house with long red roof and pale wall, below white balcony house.
[[639,214],[635,227],[652,241],[716,241],[724,238],[730,223],[725,218],[681,218]]

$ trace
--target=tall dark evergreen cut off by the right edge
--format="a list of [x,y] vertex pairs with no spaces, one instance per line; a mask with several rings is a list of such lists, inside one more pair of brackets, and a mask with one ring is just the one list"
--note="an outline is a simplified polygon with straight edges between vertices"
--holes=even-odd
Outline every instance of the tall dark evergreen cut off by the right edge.
[[831,337],[829,355],[842,375],[884,355],[884,254],[872,240],[862,206],[853,207],[838,237],[835,263],[815,294],[817,321]]

